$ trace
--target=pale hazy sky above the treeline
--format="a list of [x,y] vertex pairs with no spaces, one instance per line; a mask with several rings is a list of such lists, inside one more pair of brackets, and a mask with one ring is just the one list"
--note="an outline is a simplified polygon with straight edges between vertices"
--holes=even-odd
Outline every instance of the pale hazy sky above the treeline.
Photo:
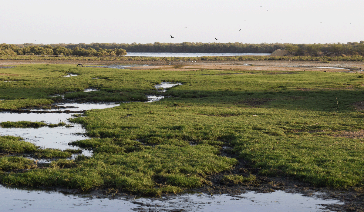
[[359,42],[363,7],[363,0],[2,0],[0,43]]

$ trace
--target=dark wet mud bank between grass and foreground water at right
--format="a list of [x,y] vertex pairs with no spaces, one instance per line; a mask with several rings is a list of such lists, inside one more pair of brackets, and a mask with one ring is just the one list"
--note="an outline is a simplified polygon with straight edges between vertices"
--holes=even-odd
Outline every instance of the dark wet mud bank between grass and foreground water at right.
[[[222,155],[233,157],[230,150],[222,151]],[[304,196],[313,196],[315,192],[322,192],[320,198],[337,199],[343,201],[344,204],[321,204],[332,211],[357,211],[364,210],[364,189],[360,187],[348,189],[334,189],[327,187],[314,187],[312,184],[304,183],[292,179],[284,175],[279,169],[271,170],[276,174],[275,177],[260,175],[261,169],[252,167],[252,164],[240,160],[239,163],[229,171],[221,172],[215,175],[205,177],[210,181],[209,184],[203,185],[201,188],[189,189],[189,192],[202,192],[211,196],[228,194],[230,196],[240,195],[249,191],[257,193],[270,193],[277,190],[288,193],[301,193]],[[252,181],[236,183],[234,181],[225,180],[226,175],[240,175],[249,177],[255,175]]]

